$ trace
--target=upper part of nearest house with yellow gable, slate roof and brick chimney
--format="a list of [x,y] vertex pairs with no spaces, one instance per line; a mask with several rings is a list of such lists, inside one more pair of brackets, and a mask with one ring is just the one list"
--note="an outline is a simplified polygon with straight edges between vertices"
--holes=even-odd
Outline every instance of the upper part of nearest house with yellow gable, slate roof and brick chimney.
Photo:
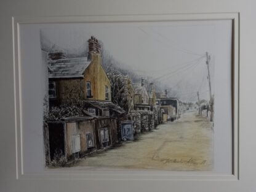
[[111,85],[102,67],[100,44],[95,37],[91,37],[88,42],[87,58],[66,58],[61,52],[49,53],[50,104],[78,99],[111,101]]

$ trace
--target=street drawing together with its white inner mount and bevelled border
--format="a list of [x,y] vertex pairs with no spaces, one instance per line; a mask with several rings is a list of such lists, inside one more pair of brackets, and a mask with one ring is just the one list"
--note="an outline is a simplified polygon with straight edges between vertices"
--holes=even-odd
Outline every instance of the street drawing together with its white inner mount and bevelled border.
[[17,180],[239,180],[238,13],[13,27]]

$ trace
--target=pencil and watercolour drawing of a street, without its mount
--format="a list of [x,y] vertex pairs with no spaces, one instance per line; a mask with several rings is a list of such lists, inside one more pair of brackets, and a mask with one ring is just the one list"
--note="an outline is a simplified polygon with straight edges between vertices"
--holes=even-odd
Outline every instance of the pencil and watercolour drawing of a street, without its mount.
[[46,166],[212,170],[215,25],[194,22],[42,28]]

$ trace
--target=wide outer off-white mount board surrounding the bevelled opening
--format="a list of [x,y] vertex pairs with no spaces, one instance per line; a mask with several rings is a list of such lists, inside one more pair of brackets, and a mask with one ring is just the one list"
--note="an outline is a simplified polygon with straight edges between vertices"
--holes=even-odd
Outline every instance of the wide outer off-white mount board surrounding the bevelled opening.
[[[5,1],[1,6],[1,191],[255,191],[254,126],[256,77],[254,46],[256,44],[254,1]],[[50,5],[50,6],[49,6]],[[136,6],[135,6],[136,5]],[[12,16],[63,15],[137,15],[162,13],[240,13],[240,118],[239,118],[239,181],[226,180],[103,180],[84,182],[77,177],[68,180],[17,180],[15,150],[14,68],[12,48]],[[72,175],[71,175],[72,177]],[[78,179],[78,180],[76,180]]]

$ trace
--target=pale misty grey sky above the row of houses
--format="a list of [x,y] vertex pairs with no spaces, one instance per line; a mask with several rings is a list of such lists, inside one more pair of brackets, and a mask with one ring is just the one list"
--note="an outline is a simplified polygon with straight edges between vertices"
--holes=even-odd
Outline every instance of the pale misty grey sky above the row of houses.
[[87,40],[95,36],[122,67],[158,80],[182,101],[197,101],[197,91],[209,100],[206,52],[213,94],[215,65],[230,62],[231,56],[231,21],[225,20],[52,24],[41,29],[41,36],[68,53],[86,51]]

